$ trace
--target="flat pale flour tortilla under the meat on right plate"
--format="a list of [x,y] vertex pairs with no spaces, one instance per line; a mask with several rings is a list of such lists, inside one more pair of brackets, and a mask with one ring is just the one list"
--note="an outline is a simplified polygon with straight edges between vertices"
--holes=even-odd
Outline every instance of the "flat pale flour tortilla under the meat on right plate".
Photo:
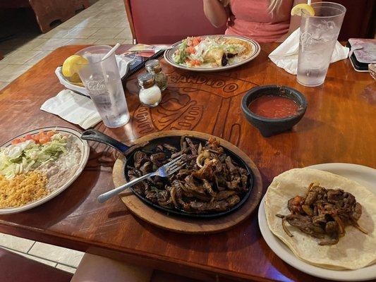
[[[362,216],[358,223],[368,235],[353,226],[346,227],[346,234],[339,243],[331,246],[317,245],[320,239],[313,238],[289,225],[293,234],[287,235],[281,219],[275,214],[290,214],[287,202],[296,195],[304,196],[310,183],[320,183],[327,189],[342,189],[351,192],[362,205]],[[376,262],[376,196],[362,185],[326,171],[311,168],[295,168],[281,173],[270,184],[265,196],[267,224],[299,259],[326,269],[360,269]]]

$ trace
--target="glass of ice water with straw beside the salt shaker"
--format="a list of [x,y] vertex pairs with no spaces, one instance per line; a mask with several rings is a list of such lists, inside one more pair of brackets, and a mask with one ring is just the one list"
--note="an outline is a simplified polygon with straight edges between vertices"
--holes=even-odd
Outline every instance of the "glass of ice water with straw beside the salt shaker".
[[104,125],[117,128],[128,123],[129,112],[115,54],[102,60],[110,50],[107,45],[99,45],[87,47],[76,54],[89,61],[80,66],[78,74]]

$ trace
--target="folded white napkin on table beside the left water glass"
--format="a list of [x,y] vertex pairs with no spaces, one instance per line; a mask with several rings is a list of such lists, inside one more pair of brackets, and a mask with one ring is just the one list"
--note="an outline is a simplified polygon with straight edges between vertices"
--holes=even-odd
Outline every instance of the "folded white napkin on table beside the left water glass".
[[90,128],[102,120],[91,99],[67,89],[48,99],[40,109],[78,124],[83,129]]

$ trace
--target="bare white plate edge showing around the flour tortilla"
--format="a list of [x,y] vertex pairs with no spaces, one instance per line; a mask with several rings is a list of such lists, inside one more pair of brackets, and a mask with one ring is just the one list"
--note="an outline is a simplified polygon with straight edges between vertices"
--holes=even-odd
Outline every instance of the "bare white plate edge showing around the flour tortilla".
[[[315,168],[320,171],[328,171],[339,176],[344,176],[360,183],[376,195],[376,169],[374,168],[360,166],[358,164],[315,164],[314,166],[308,166],[308,168]],[[306,274],[335,281],[365,281],[376,278],[376,264],[356,270],[330,270],[313,266],[312,264],[308,264],[298,259],[298,257],[293,255],[293,252],[291,252],[289,247],[284,245],[279,238],[274,236],[267,226],[267,218],[265,216],[265,196],[262,198],[258,209],[258,224],[260,226],[262,237],[264,237],[267,245],[269,245],[273,252],[284,262]]]

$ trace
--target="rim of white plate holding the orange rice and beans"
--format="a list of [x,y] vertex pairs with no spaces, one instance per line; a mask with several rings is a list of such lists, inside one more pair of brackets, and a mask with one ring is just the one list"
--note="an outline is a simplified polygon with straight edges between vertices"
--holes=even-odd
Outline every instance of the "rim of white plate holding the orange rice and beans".
[[81,158],[80,158],[80,162],[78,164],[77,171],[75,171],[73,176],[71,176],[70,178],[68,178],[66,180],[66,183],[64,185],[62,185],[60,188],[54,190],[53,192],[49,193],[49,195],[47,195],[46,197],[43,197],[42,199],[37,200],[35,202],[30,202],[29,204],[25,204],[22,207],[12,207],[12,208],[0,209],[0,214],[15,214],[16,212],[23,212],[23,211],[26,211],[28,209],[32,209],[33,207],[37,207],[40,204],[43,204],[43,203],[51,200],[52,198],[56,197],[61,192],[63,192],[63,190],[66,190],[66,188],[68,188],[73,183],[73,181],[76,178],[78,178],[78,176],[80,176],[80,174],[83,171],[83,168],[85,168],[85,166],[86,166],[87,159],[89,159],[90,148],[87,145],[87,141],[82,140],[80,138],[81,133],[79,133],[77,130],[74,130],[72,128],[65,128],[65,127],[60,127],[60,126],[49,126],[49,127],[46,127],[46,128],[39,128],[39,129],[31,130],[27,133],[23,133],[21,135],[14,137],[13,139],[9,140],[8,142],[5,142],[0,147],[8,147],[9,145],[11,145],[12,140],[14,140],[16,138],[24,137],[25,135],[28,135],[28,134],[39,133],[41,130],[44,130],[44,131],[55,130],[55,131],[58,131],[58,132],[61,132],[61,133],[69,133],[70,135],[73,135],[74,142],[78,145],[78,148],[81,151]]

